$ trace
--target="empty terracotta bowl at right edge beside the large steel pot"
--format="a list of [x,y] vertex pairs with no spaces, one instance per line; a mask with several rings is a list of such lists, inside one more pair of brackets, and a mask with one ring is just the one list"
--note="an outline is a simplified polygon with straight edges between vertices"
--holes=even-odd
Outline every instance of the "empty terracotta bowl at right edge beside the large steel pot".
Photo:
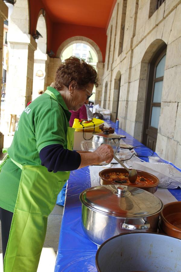
[[160,228],[169,236],[181,239],[181,201],[164,205]]

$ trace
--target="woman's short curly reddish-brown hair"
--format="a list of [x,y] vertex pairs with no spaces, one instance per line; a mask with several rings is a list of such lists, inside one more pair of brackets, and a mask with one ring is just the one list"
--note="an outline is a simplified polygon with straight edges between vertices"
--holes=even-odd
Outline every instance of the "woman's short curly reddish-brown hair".
[[63,85],[68,88],[71,81],[76,82],[77,89],[82,89],[88,83],[94,83],[96,87],[99,85],[94,67],[73,56],[62,62],[57,69],[54,88],[61,91]]

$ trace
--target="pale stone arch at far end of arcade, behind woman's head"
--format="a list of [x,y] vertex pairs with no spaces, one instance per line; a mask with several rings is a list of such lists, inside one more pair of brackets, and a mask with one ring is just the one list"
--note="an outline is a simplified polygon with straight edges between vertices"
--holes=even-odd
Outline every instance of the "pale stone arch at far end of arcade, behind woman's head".
[[90,46],[94,52],[97,55],[97,74],[100,79],[100,85],[96,88],[96,93],[95,93],[95,104],[101,103],[101,96],[102,96],[102,75],[103,75],[103,69],[104,69],[104,63],[103,63],[103,57],[100,48],[98,45],[91,39],[84,37],[84,36],[74,36],[71,38],[68,38],[65,40],[60,46],[59,49],[57,50],[56,53],[56,58],[61,58],[63,51],[70,46],[71,44],[75,43],[84,43]]

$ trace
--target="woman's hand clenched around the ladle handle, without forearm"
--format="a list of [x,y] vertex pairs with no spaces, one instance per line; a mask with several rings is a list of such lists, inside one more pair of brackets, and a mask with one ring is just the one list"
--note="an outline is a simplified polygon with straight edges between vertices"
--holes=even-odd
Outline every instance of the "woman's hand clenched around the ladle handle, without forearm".
[[100,164],[103,161],[110,163],[113,159],[114,151],[109,144],[101,144],[101,146],[98,147],[97,150],[93,152],[93,154],[98,158],[97,164]]

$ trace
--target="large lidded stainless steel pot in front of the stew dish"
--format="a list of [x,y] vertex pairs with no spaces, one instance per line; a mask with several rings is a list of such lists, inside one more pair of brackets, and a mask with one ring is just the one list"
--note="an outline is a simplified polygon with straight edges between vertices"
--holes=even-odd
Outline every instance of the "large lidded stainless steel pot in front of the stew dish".
[[95,244],[124,232],[157,232],[163,203],[131,186],[102,185],[83,191],[82,227]]

